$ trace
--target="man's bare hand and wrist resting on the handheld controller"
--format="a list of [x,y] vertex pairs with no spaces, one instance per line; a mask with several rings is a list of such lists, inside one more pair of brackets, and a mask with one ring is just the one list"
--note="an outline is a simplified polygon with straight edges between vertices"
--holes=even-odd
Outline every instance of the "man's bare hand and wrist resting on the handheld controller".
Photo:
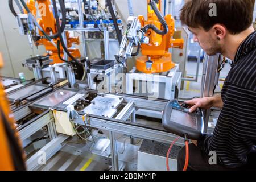
[[201,109],[210,109],[210,107],[219,107],[223,106],[223,102],[221,100],[221,96],[214,97],[203,97],[203,98],[195,98],[190,101],[185,101],[186,104],[189,105],[189,112],[193,113],[197,108]]

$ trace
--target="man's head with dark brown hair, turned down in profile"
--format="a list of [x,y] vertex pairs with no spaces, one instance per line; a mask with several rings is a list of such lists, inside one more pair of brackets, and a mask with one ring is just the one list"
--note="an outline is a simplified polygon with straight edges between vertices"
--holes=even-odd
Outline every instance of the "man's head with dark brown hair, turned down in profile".
[[180,13],[208,55],[222,53],[225,39],[249,28],[255,0],[188,0]]

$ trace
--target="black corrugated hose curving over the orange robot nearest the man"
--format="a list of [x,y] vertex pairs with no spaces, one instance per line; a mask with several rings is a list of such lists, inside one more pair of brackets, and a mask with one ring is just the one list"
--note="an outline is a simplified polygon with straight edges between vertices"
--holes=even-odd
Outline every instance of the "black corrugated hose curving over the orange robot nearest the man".
[[143,27],[143,31],[147,32],[148,29],[152,29],[156,32],[156,34],[165,35],[168,32],[168,25],[166,23],[166,20],[163,18],[163,15],[158,10],[158,7],[156,6],[156,3],[154,0],[150,1],[150,5],[152,9],[154,10],[156,16],[158,17],[160,23],[162,24],[164,30],[159,30],[154,24],[147,24]]

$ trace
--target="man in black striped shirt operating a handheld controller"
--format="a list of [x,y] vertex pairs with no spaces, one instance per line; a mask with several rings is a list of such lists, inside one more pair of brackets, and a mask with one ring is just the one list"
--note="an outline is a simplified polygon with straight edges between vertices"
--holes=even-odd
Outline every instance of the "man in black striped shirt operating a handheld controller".
[[[187,101],[197,107],[221,109],[212,135],[189,144],[188,170],[233,170],[256,167],[256,32],[252,26],[255,0],[192,0],[181,9],[181,22],[208,55],[233,60],[221,96]],[[214,11],[216,11],[214,13]],[[217,163],[209,163],[217,154]],[[216,152],[216,153],[215,153]],[[214,157],[214,156],[213,156]],[[183,169],[185,149],[179,152]],[[214,159],[210,158],[214,163]]]

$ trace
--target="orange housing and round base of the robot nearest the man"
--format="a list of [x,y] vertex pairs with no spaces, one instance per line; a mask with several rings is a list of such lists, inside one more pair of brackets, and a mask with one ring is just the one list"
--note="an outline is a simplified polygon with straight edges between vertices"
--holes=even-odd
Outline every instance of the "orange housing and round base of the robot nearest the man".
[[[150,0],[148,0],[148,4]],[[161,1],[158,4],[159,11],[161,11]],[[162,29],[162,24],[159,22],[158,17],[151,10],[151,6],[148,5],[148,20],[146,21],[142,15],[138,16],[142,27],[146,24],[154,24],[158,29]],[[172,39],[175,31],[175,20],[170,14],[167,14],[164,19],[168,25],[168,32],[165,35],[156,34],[153,30],[148,30],[145,36],[150,38],[149,44],[142,44],[141,50],[142,55],[136,60],[136,68],[138,71],[143,73],[161,73],[169,71],[174,67],[172,63],[171,53],[168,51],[171,47],[177,47],[182,49],[184,40],[183,39]],[[146,62],[152,61],[151,67],[148,68]]]

